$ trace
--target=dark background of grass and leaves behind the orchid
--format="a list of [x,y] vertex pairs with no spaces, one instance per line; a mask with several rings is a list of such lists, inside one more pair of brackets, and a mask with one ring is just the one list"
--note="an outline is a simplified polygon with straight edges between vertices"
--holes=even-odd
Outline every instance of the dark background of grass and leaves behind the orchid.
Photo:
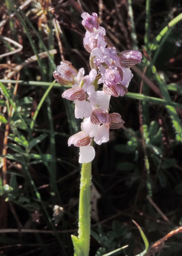
[[[95,145],[90,255],[144,250],[182,225],[182,5],[180,0],[5,0],[0,4],[1,255],[73,255],[80,167],[74,106],[53,82],[60,61],[89,72],[81,13],[96,12],[109,46],[140,50],[129,93],[112,98],[125,120]],[[22,47],[21,47],[22,46]],[[182,229],[182,228],[181,228]],[[148,254],[181,255],[177,229]]]

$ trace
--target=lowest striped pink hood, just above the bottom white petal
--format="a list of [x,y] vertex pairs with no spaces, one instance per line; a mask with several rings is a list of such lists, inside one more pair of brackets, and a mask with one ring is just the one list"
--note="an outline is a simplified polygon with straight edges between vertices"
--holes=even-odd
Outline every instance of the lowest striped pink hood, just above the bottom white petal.
[[79,133],[73,134],[68,139],[68,146],[73,144],[74,146],[87,146],[91,142],[91,138],[88,133],[81,131]]

